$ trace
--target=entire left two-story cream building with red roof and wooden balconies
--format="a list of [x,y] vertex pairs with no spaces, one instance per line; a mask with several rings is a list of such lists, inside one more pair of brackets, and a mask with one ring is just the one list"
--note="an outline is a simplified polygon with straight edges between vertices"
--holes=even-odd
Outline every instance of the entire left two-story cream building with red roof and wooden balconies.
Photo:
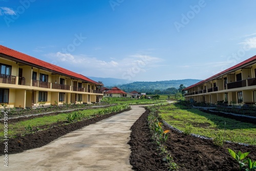
[[0,104],[26,108],[91,103],[103,97],[103,85],[81,74],[0,45]]

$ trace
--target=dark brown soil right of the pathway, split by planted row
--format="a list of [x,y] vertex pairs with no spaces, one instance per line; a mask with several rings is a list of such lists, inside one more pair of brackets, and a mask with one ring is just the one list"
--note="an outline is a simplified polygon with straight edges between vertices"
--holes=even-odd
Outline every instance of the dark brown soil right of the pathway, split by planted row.
[[[135,170],[168,170],[162,161],[157,146],[152,141],[150,130],[146,125],[146,111],[131,127],[132,154],[130,163]],[[168,129],[165,126],[165,129]],[[169,130],[169,129],[168,129]],[[239,170],[238,163],[228,153],[227,148],[242,153],[250,152],[249,156],[256,160],[256,146],[244,146],[236,143],[225,143],[224,146],[214,145],[212,140],[184,135],[171,130],[166,144],[168,152],[179,170]]]

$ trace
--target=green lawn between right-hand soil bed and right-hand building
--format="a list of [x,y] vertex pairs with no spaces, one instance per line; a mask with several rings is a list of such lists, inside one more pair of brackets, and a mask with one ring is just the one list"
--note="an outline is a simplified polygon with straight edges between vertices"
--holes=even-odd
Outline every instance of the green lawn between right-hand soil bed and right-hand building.
[[[191,133],[225,140],[256,145],[256,125],[204,113],[198,109],[185,109],[182,105],[169,104],[159,108],[159,115],[170,125],[181,131],[191,128]],[[225,125],[226,123],[226,125]]]

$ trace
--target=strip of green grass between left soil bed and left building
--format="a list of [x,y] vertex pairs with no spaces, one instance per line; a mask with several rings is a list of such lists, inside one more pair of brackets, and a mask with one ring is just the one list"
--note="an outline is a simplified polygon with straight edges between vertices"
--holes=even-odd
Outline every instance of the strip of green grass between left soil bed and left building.
[[[115,106],[111,106],[108,108],[114,108]],[[83,113],[84,116],[83,118],[93,116],[97,114],[98,111],[102,109],[108,109],[108,108],[97,108],[97,109],[87,109],[87,110],[82,110],[79,111],[80,113]],[[75,113],[77,111],[71,112]],[[53,115],[53,116],[42,116],[38,118],[33,118],[25,121],[20,121],[16,123],[10,123],[8,124],[8,137],[15,136],[17,134],[24,134],[26,133],[25,127],[28,127],[29,125],[32,126],[33,130],[36,129],[39,126],[49,126],[53,123],[56,122],[63,122],[63,121],[68,121],[67,116],[70,114],[69,113],[61,113],[58,115]],[[68,124],[68,123],[67,123]],[[0,123],[1,127],[4,127],[4,123]],[[0,138],[4,137],[4,131],[0,132]]]

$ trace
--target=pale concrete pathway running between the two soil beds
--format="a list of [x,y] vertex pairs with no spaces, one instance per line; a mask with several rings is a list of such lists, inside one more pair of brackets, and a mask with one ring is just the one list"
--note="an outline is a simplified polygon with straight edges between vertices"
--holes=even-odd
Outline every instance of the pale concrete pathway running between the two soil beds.
[[2,162],[0,170],[132,170],[127,142],[131,126],[145,109],[131,107],[48,145],[8,155],[8,167]]

